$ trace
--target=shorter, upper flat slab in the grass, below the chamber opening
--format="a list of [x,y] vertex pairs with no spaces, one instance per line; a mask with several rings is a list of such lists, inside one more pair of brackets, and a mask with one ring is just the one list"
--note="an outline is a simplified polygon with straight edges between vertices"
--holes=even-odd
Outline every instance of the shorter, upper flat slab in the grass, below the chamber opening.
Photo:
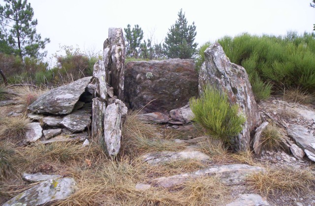
[[210,159],[210,157],[200,151],[182,151],[144,154],[142,159],[151,165],[157,165],[180,159],[206,160]]

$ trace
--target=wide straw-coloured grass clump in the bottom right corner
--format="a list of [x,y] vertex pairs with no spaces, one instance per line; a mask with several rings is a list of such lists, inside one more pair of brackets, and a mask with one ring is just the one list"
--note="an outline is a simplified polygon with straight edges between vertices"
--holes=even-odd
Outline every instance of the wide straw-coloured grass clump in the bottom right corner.
[[314,186],[315,176],[309,169],[267,168],[265,173],[252,174],[247,178],[250,187],[263,196],[288,193],[300,195]]

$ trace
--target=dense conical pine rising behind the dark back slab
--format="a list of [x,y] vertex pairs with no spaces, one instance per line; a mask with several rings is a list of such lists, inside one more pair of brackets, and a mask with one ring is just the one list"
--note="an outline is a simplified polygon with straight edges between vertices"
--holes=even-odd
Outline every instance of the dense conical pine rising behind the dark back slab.
[[164,54],[168,58],[192,58],[197,52],[197,43],[194,43],[196,26],[194,22],[188,26],[183,9],[178,13],[178,20],[172,25],[163,44]]

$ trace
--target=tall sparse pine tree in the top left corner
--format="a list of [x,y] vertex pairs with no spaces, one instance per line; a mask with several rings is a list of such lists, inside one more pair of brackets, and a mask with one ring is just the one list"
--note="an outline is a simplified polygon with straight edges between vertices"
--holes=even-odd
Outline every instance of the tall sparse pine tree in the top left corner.
[[47,52],[40,52],[50,42],[48,38],[41,40],[36,33],[37,19],[33,19],[34,11],[27,0],[4,0],[0,5],[0,41],[6,42],[14,53],[22,59],[26,56],[42,58]]

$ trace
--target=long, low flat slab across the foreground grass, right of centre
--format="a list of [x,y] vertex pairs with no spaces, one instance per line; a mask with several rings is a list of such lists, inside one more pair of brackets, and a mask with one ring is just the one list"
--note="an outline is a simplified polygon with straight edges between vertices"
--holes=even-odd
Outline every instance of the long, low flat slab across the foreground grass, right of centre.
[[237,185],[244,183],[247,175],[258,172],[264,172],[264,169],[247,164],[212,165],[191,173],[153,179],[151,183],[155,186],[168,188],[202,176],[215,176],[219,177],[226,185]]

